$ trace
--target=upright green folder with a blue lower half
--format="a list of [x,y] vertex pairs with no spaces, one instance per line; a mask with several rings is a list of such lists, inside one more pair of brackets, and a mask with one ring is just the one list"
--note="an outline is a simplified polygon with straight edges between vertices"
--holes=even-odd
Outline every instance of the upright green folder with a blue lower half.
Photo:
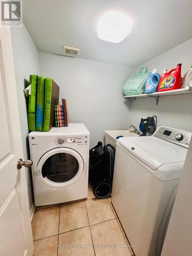
[[35,130],[42,131],[44,124],[45,77],[37,77],[37,105]]

